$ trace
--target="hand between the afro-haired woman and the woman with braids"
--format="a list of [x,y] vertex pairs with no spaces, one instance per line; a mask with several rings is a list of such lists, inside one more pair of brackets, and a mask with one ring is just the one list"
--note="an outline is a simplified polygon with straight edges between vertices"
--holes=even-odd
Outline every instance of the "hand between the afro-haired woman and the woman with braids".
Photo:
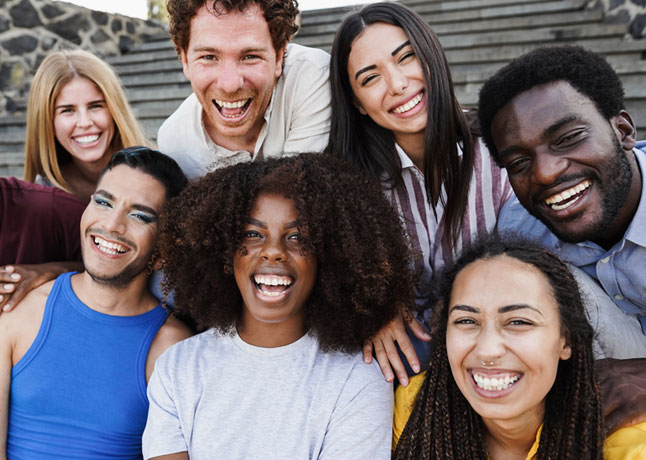
[[[421,369],[419,358],[415,348],[411,343],[406,327],[420,340],[428,342],[431,336],[424,330],[424,327],[417,321],[407,309],[400,309],[400,313],[384,326],[377,335],[366,341],[363,345],[363,360],[366,364],[372,362],[372,353],[374,351],[381,372],[386,381],[392,382],[395,374],[399,383],[403,386],[408,385],[408,374],[404,363],[402,362],[397,345],[408,360],[410,367],[415,372]],[[394,370],[394,373],[393,373]]]

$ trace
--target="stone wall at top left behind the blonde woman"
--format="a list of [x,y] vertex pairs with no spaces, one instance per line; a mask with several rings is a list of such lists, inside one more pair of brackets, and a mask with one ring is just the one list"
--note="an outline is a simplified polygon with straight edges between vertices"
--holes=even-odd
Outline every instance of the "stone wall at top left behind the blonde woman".
[[82,48],[100,57],[166,33],[157,21],[51,0],[0,0],[0,116],[24,110],[31,77],[47,53]]

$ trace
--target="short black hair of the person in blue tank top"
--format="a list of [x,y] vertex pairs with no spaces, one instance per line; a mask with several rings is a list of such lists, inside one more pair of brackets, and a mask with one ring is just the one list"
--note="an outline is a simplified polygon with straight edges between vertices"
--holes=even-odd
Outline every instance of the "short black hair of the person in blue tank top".
[[99,174],[97,183],[106,172],[121,164],[138,169],[157,179],[166,189],[166,199],[179,195],[188,184],[188,179],[175,160],[157,150],[140,146],[128,147],[112,155]]

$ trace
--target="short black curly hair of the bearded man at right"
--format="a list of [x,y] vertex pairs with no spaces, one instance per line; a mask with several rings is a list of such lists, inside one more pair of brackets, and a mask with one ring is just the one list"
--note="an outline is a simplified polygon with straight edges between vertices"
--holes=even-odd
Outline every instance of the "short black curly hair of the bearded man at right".
[[499,165],[498,150],[491,135],[493,118],[520,93],[559,80],[567,81],[592,100],[607,120],[625,108],[621,80],[599,54],[572,45],[545,46],[530,51],[498,70],[480,89],[480,129],[489,152]]

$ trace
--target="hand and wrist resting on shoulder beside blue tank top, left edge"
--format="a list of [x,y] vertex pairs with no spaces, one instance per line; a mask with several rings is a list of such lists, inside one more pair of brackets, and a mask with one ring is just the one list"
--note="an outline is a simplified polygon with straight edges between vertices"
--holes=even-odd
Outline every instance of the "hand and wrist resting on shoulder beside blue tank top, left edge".
[[8,312],[33,289],[70,271],[83,270],[80,262],[48,262],[0,267],[0,313]]

